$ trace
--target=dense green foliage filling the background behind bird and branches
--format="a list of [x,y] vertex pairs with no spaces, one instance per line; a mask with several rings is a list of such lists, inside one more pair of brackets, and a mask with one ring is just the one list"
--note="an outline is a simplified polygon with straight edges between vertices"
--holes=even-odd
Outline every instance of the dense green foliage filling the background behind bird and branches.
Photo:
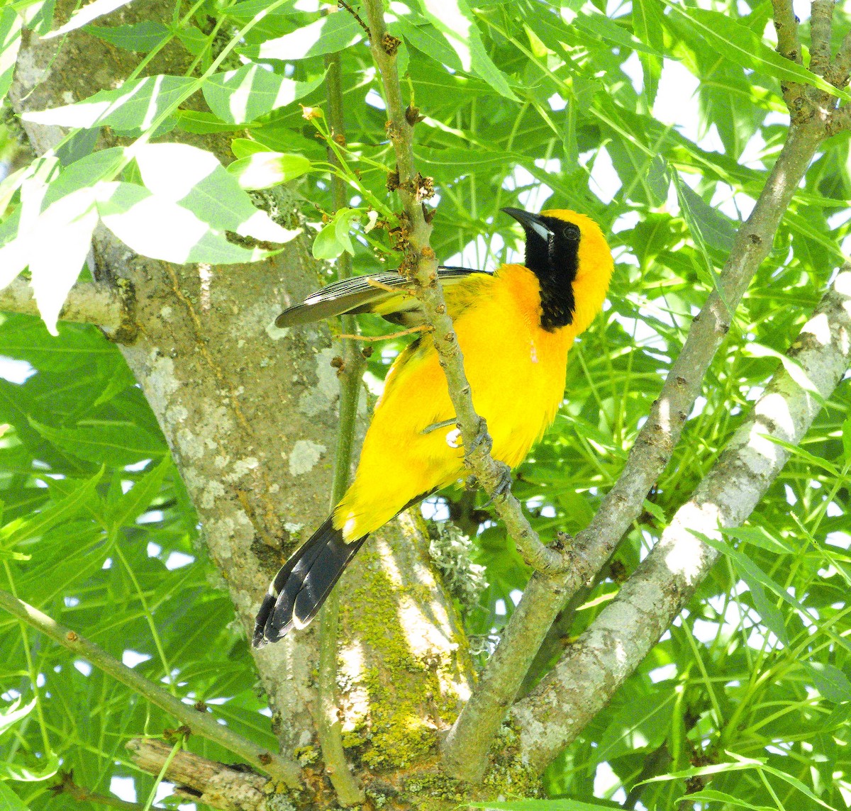
[[[410,0],[392,8],[390,29],[403,40],[403,89],[426,116],[416,128],[415,148],[420,170],[434,178],[439,193],[432,239],[437,255],[457,263],[461,253],[466,262],[491,267],[505,255],[517,258],[505,251],[518,246],[520,234],[500,207],[523,206],[530,195],[535,205],[591,214],[611,234],[617,267],[608,308],[572,351],[565,404],[515,484],[544,537],[559,528],[579,530],[618,476],[671,357],[723,265],[739,223],[720,203],[732,199],[746,213],[782,144],[787,116],[779,80],[789,68],[775,57],[771,40],[762,39],[774,36],[771,5],[484,0],[468,8],[461,0]],[[14,49],[16,9],[38,31],[51,27],[49,4],[4,9],[0,22],[12,43],[7,57]],[[441,9],[437,17],[435,9]],[[446,22],[453,15],[455,23],[470,24],[466,36],[457,33],[464,26]],[[318,34],[312,45],[300,31],[304,26]],[[277,77],[277,88],[282,78],[294,79],[293,100],[323,106],[323,57],[342,48],[346,155],[361,188],[352,192],[351,206],[359,210],[346,214],[346,227],[328,231],[326,255],[350,245],[357,271],[374,271],[380,262],[395,266],[386,234],[364,231],[363,201],[386,200],[392,157],[372,60],[363,43],[355,44],[360,29],[351,16],[324,18],[290,0],[202,0],[191,7],[178,3],[171,26],[154,20],[113,26],[106,18],[87,30],[140,60],[171,39],[180,41],[196,57],[192,76],[203,82],[174,77],[167,86],[172,95],[146,91],[162,113],[157,133],[232,131],[267,149],[309,158],[311,171],[290,188],[317,227],[332,208],[325,146],[316,137],[322,119],[306,120],[296,103],[272,110],[258,82]],[[847,30],[848,19],[840,17],[835,45]],[[300,32],[279,39],[292,31]],[[806,41],[806,24],[802,37]],[[229,45],[233,50],[214,66]],[[240,75],[229,83],[220,72],[242,66],[237,54],[273,72],[246,73],[244,81]],[[699,82],[698,142],[654,118],[663,66],[671,62]],[[7,88],[0,81],[0,89]],[[210,111],[179,107],[180,92],[192,88],[203,90]],[[662,88],[677,94],[676,87]],[[113,129],[145,131],[146,105],[134,106],[121,90],[109,92],[116,103],[108,121]],[[237,108],[251,117],[237,115]],[[59,165],[42,164],[57,197],[63,188],[67,193],[80,186],[73,182],[75,162],[89,154],[90,134],[104,123],[84,106],[62,109],[54,122],[82,129]],[[742,163],[746,148],[750,157]],[[591,174],[608,159],[616,180],[601,190]],[[178,164],[165,168],[181,171]],[[132,162],[106,170],[113,174],[101,179],[145,182]],[[82,185],[92,182],[89,175]],[[19,186],[0,186],[8,206],[0,245],[17,233]],[[665,517],[688,499],[777,368],[777,353],[789,346],[844,259],[849,197],[845,134],[825,145],[797,191],[647,511],[608,576],[563,627],[553,655],[593,620],[658,539]],[[206,222],[200,204],[181,204]],[[132,220],[131,213],[123,215]],[[144,226],[129,221],[131,231]],[[160,248],[146,249],[157,255]],[[53,272],[67,287],[78,271],[77,262],[59,263]],[[331,278],[333,270],[317,281]],[[368,334],[384,328],[363,319]],[[400,346],[389,342],[374,353],[374,380]],[[246,641],[229,625],[232,608],[198,542],[191,504],[116,347],[94,328],[61,325],[54,338],[35,319],[4,316],[0,355],[30,364],[7,363],[4,374],[31,373],[24,382],[0,380],[0,420],[8,424],[0,441],[3,588],[118,658],[125,651],[143,654],[146,660],[135,666],[147,677],[186,700],[220,702],[233,728],[274,745]],[[644,789],[637,808],[675,809],[690,768],[724,762],[734,765],[721,768],[706,791],[692,797],[695,808],[848,808],[848,404],[844,382],[748,526],[728,533],[726,554],[688,610],[552,764],[545,779],[550,797],[622,802],[637,780],[668,774],[670,780]],[[475,531],[483,516],[470,518],[468,497],[459,491],[445,499]],[[511,594],[528,577],[502,529],[485,526],[476,557],[489,586],[466,618],[470,632],[482,637],[499,631],[501,608],[511,611]],[[133,735],[161,734],[170,719],[16,621],[0,617],[0,629],[0,805],[82,808],[49,792],[60,763],[90,791],[106,793],[113,777],[130,776],[144,802],[154,781],[129,765],[123,743]],[[549,664],[540,661],[534,676]],[[11,714],[22,705],[30,711]],[[214,745],[191,745],[228,759]]]

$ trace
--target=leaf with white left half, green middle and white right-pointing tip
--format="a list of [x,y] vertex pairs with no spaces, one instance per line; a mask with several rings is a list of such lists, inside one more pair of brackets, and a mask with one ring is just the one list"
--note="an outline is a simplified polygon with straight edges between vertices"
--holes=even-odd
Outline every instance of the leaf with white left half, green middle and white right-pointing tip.
[[186,144],[146,144],[135,157],[146,188],[158,200],[180,204],[214,231],[281,244],[300,233],[254,208],[237,179],[210,152]]

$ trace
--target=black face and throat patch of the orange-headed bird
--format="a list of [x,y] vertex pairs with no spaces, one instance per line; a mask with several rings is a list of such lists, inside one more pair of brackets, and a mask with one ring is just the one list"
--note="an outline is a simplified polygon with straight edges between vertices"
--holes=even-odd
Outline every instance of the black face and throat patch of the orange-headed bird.
[[555,217],[540,217],[550,229],[541,237],[533,228],[526,231],[526,266],[540,283],[540,325],[548,332],[574,321],[574,280],[579,266],[580,230]]

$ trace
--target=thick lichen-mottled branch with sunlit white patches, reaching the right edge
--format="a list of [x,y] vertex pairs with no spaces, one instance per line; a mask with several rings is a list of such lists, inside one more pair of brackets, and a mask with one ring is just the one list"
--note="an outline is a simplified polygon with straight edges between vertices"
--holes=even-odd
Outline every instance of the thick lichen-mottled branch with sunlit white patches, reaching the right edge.
[[[543,769],[611,699],[688,603],[720,554],[698,534],[722,541],[774,482],[851,362],[851,266],[845,266],[802,328],[788,356],[820,397],[780,368],[716,465],[659,543],[558,665],[511,712],[518,756]],[[722,541],[723,542],[723,541]]]

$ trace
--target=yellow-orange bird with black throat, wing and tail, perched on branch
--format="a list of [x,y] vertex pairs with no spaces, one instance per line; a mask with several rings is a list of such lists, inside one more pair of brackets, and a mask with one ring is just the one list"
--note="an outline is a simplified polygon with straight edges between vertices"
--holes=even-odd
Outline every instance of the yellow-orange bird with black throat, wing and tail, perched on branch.
[[[502,208],[523,227],[523,265],[493,273],[441,266],[447,310],[491,454],[516,467],[563,403],[568,350],[603,307],[614,260],[594,220],[567,208]],[[283,311],[279,328],[345,314],[424,323],[398,273],[332,283]],[[420,334],[386,375],[357,471],[331,515],[284,563],[263,597],[255,648],[304,628],[368,535],[464,476],[464,446],[434,342]]]

